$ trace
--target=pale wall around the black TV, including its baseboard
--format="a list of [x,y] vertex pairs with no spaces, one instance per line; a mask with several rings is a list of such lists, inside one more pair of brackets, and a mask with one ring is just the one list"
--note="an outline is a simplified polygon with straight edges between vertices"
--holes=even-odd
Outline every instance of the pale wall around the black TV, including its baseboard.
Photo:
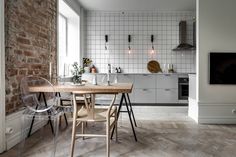
[[198,0],[197,101],[199,122],[236,123],[235,85],[209,84],[209,52],[236,52],[236,1]]

